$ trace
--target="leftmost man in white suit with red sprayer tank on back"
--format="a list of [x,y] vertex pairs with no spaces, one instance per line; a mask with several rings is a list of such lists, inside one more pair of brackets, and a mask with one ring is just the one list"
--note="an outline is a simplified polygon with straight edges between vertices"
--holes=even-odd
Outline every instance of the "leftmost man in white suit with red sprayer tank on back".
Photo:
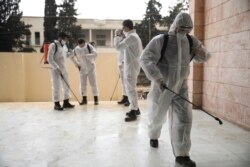
[[[68,73],[65,68],[64,45],[68,40],[68,35],[60,32],[58,40],[55,40],[49,45],[48,62],[51,65],[51,81],[52,81],[52,96],[55,103],[55,110],[63,110],[63,108],[73,108],[74,105],[69,103],[70,88]],[[64,90],[63,106],[60,105],[61,84]]]

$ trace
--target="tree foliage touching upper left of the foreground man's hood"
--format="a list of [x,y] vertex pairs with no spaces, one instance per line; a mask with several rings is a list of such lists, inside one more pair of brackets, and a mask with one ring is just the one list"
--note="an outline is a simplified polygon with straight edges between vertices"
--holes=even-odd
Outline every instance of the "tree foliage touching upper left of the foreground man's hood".
[[187,11],[188,7],[188,0],[178,0],[178,3],[176,5],[174,5],[173,7],[169,7],[169,15],[162,18],[161,25],[169,28],[174,22],[177,14],[182,11]]

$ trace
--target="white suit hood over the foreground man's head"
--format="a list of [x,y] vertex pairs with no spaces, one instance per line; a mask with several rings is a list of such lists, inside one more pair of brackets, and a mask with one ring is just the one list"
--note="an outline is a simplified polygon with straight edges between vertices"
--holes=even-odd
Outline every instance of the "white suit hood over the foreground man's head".
[[181,27],[185,27],[187,33],[193,29],[193,21],[188,13],[181,12],[175,17],[173,24],[170,26],[169,34],[175,34],[176,29]]

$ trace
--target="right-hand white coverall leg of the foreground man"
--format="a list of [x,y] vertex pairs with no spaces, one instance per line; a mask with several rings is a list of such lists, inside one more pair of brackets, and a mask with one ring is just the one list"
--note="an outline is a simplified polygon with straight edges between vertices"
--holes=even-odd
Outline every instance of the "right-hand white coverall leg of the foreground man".
[[[188,99],[187,82],[185,81],[179,94]],[[191,148],[191,105],[178,96],[174,96],[169,109],[169,132],[175,156],[189,156]]]

